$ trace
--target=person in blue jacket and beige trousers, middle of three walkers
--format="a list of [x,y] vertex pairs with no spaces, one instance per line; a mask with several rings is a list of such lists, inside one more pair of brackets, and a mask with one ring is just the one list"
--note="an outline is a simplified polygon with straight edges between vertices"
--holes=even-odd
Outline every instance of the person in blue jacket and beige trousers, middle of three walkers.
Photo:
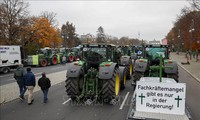
[[28,89],[28,105],[33,103],[33,89],[35,87],[35,75],[31,72],[31,68],[27,68],[27,73],[24,76],[24,83]]

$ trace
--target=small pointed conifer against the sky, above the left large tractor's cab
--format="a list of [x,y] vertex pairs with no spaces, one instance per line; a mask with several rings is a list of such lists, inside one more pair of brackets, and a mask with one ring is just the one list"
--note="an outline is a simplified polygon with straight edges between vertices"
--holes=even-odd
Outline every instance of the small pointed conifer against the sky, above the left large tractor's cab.
[[97,43],[105,43],[105,33],[102,26],[97,29]]

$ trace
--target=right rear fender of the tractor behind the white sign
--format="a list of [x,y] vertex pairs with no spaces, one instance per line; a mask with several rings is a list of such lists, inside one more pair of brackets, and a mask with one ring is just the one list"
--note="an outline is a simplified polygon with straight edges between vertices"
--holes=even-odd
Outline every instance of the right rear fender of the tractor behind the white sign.
[[170,62],[165,61],[164,67],[166,67],[164,68],[165,73],[177,73],[178,71],[178,65],[176,61],[170,61]]

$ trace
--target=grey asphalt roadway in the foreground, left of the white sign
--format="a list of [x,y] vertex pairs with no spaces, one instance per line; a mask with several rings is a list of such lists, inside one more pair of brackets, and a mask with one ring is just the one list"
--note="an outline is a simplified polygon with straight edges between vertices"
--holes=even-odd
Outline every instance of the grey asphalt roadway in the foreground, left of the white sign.
[[[42,103],[42,92],[34,93],[34,103],[27,105],[27,101],[21,102],[19,99],[1,105],[1,120],[123,120],[126,118],[130,99],[133,94],[131,81],[127,81],[127,86],[120,93],[120,101],[115,105],[108,103],[85,105],[69,101],[65,92],[65,83],[54,85],[49,91],[49,101]],[[125,95],[130,92],[127,101],[120,109]],[[26,98],[27,99],[27,98]]]

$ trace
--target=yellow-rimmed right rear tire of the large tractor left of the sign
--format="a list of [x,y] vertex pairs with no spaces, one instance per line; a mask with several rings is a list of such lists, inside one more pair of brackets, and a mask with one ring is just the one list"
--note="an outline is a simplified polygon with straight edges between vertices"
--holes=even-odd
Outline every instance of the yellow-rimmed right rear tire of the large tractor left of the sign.
[[110,102],[119,96],[120,91],[120,76],[119,69],[115,68],[113,76],[109,80],[104,80],[102,87],[102,95],[104,102]]

